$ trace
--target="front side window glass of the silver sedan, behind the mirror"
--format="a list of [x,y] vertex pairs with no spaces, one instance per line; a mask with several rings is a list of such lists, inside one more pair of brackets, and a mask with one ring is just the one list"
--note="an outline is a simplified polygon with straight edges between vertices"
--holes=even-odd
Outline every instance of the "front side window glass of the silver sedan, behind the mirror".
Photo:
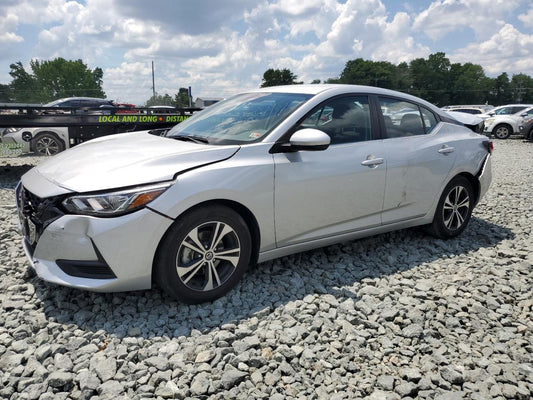
[[315,108],[301,124],[331,137],[331,144],[370,140],[370,108],[367,96],[347,96],[329,100]]

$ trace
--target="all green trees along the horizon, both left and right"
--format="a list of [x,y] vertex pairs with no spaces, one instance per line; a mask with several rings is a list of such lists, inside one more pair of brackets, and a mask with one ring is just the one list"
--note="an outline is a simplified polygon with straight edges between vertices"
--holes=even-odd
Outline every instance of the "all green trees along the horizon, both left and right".
[[[31,71],[22,63],[10,65],[12,81],[0,84],[0,102],[47,103],[63,97],[89,96],[105,98],[102,89],[103,71],[90,69],[82,60],[56,58],[49,61],[32,60]],[[261,87],[303,83],[289,69],[270,68],[263,74]],[[310,83],[321,83],[315,79]],[[445,53],[416,58],[409,63],[349,60],[339,77],[324,83],[348,83],[378,86],[410,93],[438,106],[449,104],[533,103],[533,79],[526,74],[511,78],[503,72],[496,78],[485,75],[480,65],[451,63]],[[188,89],[179,88],[174,96],[156,94],[146,106],[169,105],[187,107]]]

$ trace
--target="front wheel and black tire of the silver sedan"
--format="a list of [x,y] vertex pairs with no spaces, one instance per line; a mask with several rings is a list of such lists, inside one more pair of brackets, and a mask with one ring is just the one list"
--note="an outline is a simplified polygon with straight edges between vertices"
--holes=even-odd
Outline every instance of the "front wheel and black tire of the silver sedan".
[[170,296],[189,304],[212,301],[242,278],[252,241],[231,208],[206,206],[180,217],[161,241],[154,277]]

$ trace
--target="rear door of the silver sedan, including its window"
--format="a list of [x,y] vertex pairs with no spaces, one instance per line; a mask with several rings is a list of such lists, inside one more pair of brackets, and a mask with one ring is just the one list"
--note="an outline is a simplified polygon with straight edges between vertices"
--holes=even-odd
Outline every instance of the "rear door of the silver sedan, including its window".
[[379,97],[384,121],[387,184],[383,224],[427,214],[455,162],[455,144],[438,135],[441,125],[429,109],[401,99]]

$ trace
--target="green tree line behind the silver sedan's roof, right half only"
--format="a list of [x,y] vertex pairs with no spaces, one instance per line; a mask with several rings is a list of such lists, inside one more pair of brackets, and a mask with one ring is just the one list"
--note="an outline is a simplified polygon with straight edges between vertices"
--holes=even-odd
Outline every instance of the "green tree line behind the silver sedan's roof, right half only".
[[[268,69],[261,87],[293,85],[302,82],[289,69]],[[320,83],[315,79],[311,83]],[[421,97],[438,106],[450,104],[533,103],[533,79],[506,72],[487,77],[480,65],[451,63],[445,53],[416,58],[409,63],[370,61],[362,58],[346,62],[338,78],[324,83],[377,86]]]

